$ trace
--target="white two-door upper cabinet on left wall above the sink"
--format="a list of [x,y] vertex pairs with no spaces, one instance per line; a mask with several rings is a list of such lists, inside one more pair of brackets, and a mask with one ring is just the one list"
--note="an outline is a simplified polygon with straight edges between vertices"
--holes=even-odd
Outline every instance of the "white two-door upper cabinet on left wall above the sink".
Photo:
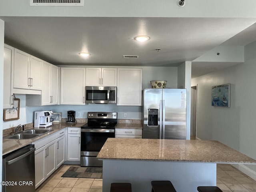
[[42,60],[14,49],[13,88],[42,90]]

